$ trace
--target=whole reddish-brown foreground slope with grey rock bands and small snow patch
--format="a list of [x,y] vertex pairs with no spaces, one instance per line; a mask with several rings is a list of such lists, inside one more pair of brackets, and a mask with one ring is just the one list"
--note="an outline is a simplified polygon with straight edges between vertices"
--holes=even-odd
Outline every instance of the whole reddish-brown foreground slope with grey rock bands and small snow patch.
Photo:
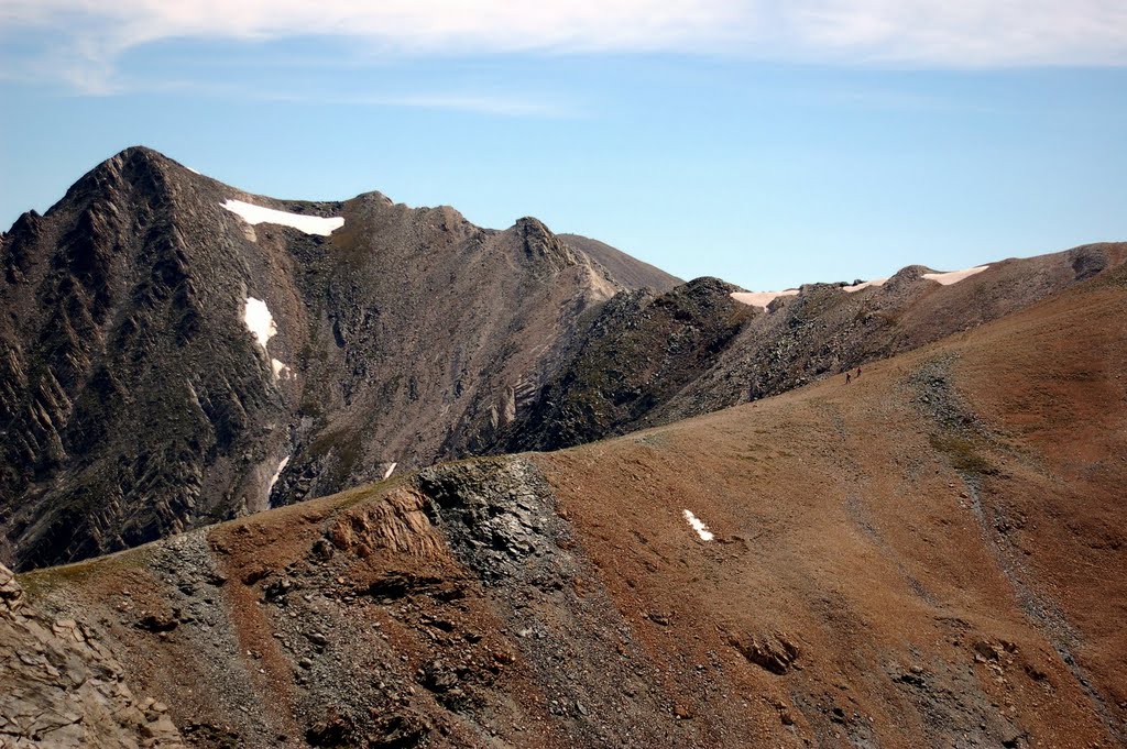
[[202,747],[1125,746],[1125,313],[21,581]]

